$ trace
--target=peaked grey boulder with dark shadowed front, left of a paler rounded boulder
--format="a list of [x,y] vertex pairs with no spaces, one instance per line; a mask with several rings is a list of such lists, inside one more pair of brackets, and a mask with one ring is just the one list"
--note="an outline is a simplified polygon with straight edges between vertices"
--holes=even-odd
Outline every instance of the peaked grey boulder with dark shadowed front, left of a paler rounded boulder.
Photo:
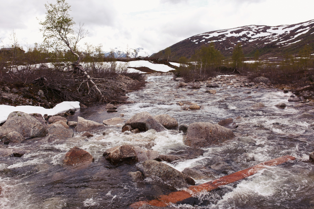
[[149,112],[139,112],[133,115],[124,124],[122,129],[130,125],[132,128],[138,128],[140,131],[148,131],[149,129],[155,129],[157,132],[167,130],[162,124],[160,124],[155,118],[153,118]]

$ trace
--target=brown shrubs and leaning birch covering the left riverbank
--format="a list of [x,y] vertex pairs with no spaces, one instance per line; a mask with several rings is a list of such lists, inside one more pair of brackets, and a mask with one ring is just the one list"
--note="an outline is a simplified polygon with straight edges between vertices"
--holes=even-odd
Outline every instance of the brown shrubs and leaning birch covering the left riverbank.
[[65,0],[45,4],[46,17],[40,21],[44,41],[34,47],[19,45],[14,33],[5,50],[0,51],[0,87],[31,87],[42,90],[47,101],[111,102],[125,95],[121,79],[140,89],[145,79],[138,73],[127,73],[128,64],[118,64],[112,50],[108,57],[102,45],[80,44],[88,31],[84,24],[75,28],[70,17],[71,6]]

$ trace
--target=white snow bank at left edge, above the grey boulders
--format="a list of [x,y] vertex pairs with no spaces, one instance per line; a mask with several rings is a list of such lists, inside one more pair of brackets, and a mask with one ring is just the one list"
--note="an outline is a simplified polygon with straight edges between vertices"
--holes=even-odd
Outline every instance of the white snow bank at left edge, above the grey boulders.
[[44,107],[38,107],[38,106],[9,106],[9,105],[0,105],[0,123],[3,123],[7,120],[8,115],[11,112],[25,112],[28,114],[31,113],[39,113],[42,115],[55,115],[58,113],[66,112],[69,109],[79,109],[79,102],[61,102],[60,104],[57,104],[55,107],[51,109],[46,109]]

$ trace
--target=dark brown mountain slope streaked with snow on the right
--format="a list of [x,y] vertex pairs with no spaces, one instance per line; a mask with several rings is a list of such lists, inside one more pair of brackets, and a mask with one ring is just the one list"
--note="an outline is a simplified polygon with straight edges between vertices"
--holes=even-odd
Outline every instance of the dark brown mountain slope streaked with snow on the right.
[[194,35],[173,44],[170,48],[175,54],[174,58],[191,57],[195,50],[210,42],[214,42],[215,48],[225,56],[230,56],[238,43],[243,45],[246,56],[254,56],[257,49],[265,56],[296,54],[304,44],[310,44],[314,48],[313,28],[314,20],[293,25],[248,25]]

